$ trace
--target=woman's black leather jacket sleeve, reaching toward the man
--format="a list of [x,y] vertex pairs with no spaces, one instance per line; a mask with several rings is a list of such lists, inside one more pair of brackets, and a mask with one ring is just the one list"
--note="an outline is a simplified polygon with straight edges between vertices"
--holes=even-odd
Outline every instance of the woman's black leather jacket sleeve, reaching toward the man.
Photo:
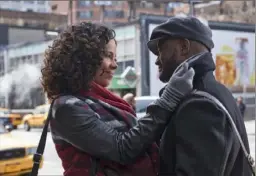
[[120,164],[132,163],[143,154],[160,138],[170,118],[170,112],[152,106],[137,126],[118,132],[81,100],[53,108],[55,128],[63,140],[92,156]]

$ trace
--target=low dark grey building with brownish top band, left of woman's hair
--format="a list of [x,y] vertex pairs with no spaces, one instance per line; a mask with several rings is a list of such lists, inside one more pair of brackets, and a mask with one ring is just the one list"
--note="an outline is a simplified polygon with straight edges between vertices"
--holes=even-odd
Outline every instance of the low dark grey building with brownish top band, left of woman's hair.
[[0,10],[0,48],[49,40],[67,25],[67,15]]

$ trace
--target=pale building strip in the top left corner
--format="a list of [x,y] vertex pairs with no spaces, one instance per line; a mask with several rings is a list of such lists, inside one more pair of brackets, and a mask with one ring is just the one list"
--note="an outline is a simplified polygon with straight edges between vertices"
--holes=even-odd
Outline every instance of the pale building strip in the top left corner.
[[23,12],[40,12],[40,13],[51,12],[49,1],[44,1],[44,0],[0,1],[0,9],[23,11]]

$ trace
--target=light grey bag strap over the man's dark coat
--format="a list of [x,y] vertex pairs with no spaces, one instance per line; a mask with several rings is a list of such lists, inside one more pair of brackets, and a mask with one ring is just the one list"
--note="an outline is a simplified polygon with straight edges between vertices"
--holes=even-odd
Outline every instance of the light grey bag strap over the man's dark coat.
[[237,130],[237,128],[236,128],[236,125],[235,125],[235,123],[234,123],[234,121],[233,121],[233,119],[232,119],[230,113],[229,113],[228,110],[225,108],[225,106],[224,106],[216,97],[212,96],[211,94],[209,94],[209,93],[207,93],[207,92],[195,90],[192,94],[196,94],[196,95],[199,95],[199,96],[203,96],[203,97],[206,97],[206,98],[212,100],[213,102],[215,102],[215,103],[227,114],[228,120],[229,120],[229,122],[230,122],[230,124],[231,124],[231,127],[232,127],[232,129],[234,130],[234,132],[235,132],[235,134],[236,134],[238,140],[239,140],[239,143],[240,143],[240,145],[241,145],[241,147],[242,147],[242,150],[243,150],[243,153],[244,153],[244,155],[245,155],[245,157],[246,157],[246,160],[247,160],[247,162],[248,162],[248,164],[249,164],[249,166],[250,166],[250,169],[251,169],[251,171],[252,171],[252,174],[253,174],[253,176],[255,176],[255,171],[254,171],[254,168],[253,168],[253,166],[254,166],[254,159],[253,159],[252,156],[247,152],[247,150],[246,150],[246,148],[245,148],[245,145],[244,145],[244,143],[243,143],[243,140],[242,140],[242,138],[241,138],[241,136],[240,136],[240,134],[239,134],[239,132],[238,132],[238,130]]

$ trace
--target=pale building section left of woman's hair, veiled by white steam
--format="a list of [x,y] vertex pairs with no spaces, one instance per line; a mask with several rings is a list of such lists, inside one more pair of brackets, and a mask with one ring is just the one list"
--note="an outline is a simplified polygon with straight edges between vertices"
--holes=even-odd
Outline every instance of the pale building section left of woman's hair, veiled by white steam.
[[[14,74],[14,72],[19,72],[18,74],[20,74],[21,76],[29,73],[30,77],[33,77],[35,71],[38,74],[40,72],[40,67],[44,58],[45,49],[49,45],[51,45],[51,43],[52,40],[22,43],[10,45],[0,50],[0,73],[2,79],[0,85],[8,90],[5,91],[5,94],[3,93],[3,91],[0,91],[1,107],[8,107],[11,109],[32,109],[35,106],[44,104],[46,102],[46,97],[39,83],[39,76],[38,78],[33,78],[33,80],[31,81],[24,80],[24,82],[22,83],[21,81],[18,81],[22,85],[17,85],[17,81],[14,81],[17,79],[14,78],[15,76],[17,76],[17,73]],[[30,64],[31,67],[29,68],[33,69],[22,70],[23,66],[25,67],[24,64]],[[13,78],[9,79],[10,77]],[[6,85],[3,85],[4,82],[6,82]],[[25,83],[29,84],[24,85]],[[27,94],[22,97],[24,99],[22,102],[16,103],[16,99],[20,99],[20,94],[22,94],[18,86],[25,88],[24,92],[27,92]],[[20,94],[17,94],[17,91],[15,91],[15,89],[18,90]]]

